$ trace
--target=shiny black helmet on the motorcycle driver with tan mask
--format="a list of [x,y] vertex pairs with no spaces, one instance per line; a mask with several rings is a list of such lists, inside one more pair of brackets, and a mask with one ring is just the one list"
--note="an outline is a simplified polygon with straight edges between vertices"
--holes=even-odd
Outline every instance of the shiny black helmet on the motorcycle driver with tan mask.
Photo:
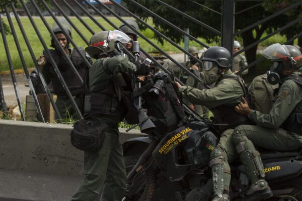
[[204,53],[201,61],[214,61],[221,68],[230,68],[232,65],[232,56],[229,50],[224,47],[210,47]]

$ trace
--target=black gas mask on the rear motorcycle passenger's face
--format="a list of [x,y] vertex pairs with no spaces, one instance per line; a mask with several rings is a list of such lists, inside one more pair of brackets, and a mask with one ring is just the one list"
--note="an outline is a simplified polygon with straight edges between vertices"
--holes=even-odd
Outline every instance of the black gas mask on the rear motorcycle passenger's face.
[[269,71],[266,72],[268,83],[272,85],[279,83],[279,81],[285,77],[284,75],[282,75],[283,70],[283,62],[275,61]]

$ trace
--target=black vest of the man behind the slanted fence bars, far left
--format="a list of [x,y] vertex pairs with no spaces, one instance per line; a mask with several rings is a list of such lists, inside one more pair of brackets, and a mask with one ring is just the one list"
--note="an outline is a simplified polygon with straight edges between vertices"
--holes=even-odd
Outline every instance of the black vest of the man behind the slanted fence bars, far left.
[[[81,93],[83,89],[83,84],[81,80],[78,78],[78,75],[76,75],[71,66],[67,63],[67,59],[63,57],[57,50],[49,50],[51,56],[53,57],[54,61],[56,62],[62,77],[64,81],[66,82],[66,85],[68,86],[70,92],[72,95],[78,95]],[[81,53],[86,56],[85,50],[80,48]],[[50,57],[47,54],[46,51],[43,51],[43,54],[46,58],[46,60],[49,62]],[[86,65],[84,63],[84,59],[79,55],[79,53],[76,50],[73,50],[71,52],[70,59],[75,66],[75,68],[78,70],[80,76],[83,78],[86,72]],[[53,86],[53,92],[57,95],[66,95],[66,92],[61,84],[61,81],[59,78],[55,75],[52,77],[52,86]]]

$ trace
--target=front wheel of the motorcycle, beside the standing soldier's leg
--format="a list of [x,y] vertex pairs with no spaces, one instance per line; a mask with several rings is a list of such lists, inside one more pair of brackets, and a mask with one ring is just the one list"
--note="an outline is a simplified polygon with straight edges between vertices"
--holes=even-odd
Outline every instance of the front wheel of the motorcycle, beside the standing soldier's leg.
[[[138,161],[139,156],[124,157],[126,173],[128,174]],[[145,169],[144,169],[145,168]],[[149,167],[143,167],[136,173],[133,180],[127,182],[127,201],[150,201],[155,190],[156,181],[155,170]]]

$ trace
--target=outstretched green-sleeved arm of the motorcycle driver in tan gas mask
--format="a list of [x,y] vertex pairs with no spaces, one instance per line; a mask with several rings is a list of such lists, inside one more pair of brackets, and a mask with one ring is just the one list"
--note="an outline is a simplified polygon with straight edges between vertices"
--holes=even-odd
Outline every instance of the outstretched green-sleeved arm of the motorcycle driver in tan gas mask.
[[229,81],[220,82],[216,87],[211,89],[200,90],[182,86],[179,88],[179,91],[191,103],[207,108],[215,108],[220,105],[236,105],[240,102],[243,95],[241,86],[236,87]]

